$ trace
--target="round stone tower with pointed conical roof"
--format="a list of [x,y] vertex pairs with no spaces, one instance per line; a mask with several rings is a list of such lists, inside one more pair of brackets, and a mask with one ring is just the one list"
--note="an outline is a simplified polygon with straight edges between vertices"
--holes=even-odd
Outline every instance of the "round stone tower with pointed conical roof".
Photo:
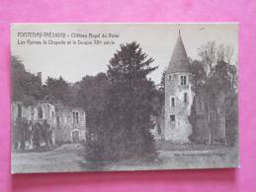
[[192,133],[189,122],[194,93],[192,74],[181,33],[165,74],[165,140],[188,143]]

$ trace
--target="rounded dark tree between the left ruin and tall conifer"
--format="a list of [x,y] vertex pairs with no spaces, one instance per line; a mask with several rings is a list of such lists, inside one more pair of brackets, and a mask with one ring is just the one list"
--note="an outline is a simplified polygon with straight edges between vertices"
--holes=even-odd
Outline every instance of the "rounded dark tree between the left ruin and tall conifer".
[[[86,76],[79,83],[77,102],[86,111],[87,140],[85,145],[86,160],[106,160],[110,158],[106,148],[108,134],[107,108],[110,83],[105,73]],[[114,133],[113,133],[114,134]]]

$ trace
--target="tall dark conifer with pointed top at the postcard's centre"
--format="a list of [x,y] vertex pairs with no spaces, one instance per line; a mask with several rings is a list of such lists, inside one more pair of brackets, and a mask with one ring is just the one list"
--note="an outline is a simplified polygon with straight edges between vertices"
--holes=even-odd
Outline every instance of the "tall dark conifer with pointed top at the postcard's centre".
[[147,75],[152,58],[142,52],[139,44],[122,44],[108,66],[110,79],[109,130],[112,137],[108,146],[115,159],[155,157],[150,129],[154,113],[156,89]]

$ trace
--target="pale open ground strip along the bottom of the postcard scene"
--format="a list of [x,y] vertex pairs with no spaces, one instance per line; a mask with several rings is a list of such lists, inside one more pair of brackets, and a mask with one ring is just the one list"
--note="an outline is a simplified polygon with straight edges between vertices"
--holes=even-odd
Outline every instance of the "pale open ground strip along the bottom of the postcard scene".
[[[15,172],[71,172],[89,170],[133,170],[133,169],[177,169],[235,166],[237,152],[231,149],[210,151],[162,151],[153,163],[139,160],[112,162],[104,166],[90,164],[82,157],[80,144],[65,144],[59,148],[41,153],[13,153],[12,171]],[[81,165],[82,164],[82,165]]]

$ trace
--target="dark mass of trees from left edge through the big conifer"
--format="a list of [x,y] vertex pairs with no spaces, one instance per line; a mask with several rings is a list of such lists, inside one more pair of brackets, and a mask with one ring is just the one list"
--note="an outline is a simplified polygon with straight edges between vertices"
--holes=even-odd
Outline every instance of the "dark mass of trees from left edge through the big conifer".
[[86,76],[73,85],[48,77],[44,85],[12,57],[13,99],[36,101],[54,96],[87,113],[87,160],[154,160],[152,115],[158,113],[159,92],[147,75],[152,58],[136,42],[122,44],[108,65],[107,74]]

